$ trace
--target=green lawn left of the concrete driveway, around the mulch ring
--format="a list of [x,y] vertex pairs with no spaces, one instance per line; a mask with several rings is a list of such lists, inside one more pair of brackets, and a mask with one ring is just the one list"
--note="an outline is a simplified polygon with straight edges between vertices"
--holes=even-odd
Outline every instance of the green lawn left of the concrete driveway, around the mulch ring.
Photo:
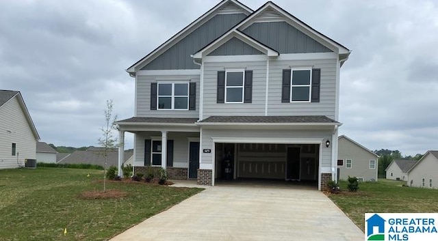
[[127,197],[79,197],[102,190],[102,179],[101,170],[0,170],[0,240],[107,240],[203,190],[108,182]]

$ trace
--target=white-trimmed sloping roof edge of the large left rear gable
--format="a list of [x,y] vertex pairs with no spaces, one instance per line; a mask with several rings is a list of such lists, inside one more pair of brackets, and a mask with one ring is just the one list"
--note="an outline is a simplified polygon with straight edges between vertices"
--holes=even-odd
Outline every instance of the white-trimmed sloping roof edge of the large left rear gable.
[[164,42],[162,45],[155,48],[155,50],[153,50],[151,53],[149,53],[148,55],[146,55],[145,57],[143,57],[142,59],[140,59],[139,61],[134,63],[129,68],[127,68],[126,71],[129,72],[130,74],[132,74],[133,72],[136,72],[136,68],[138,68],[139,66],[141,66],[141,67],[146,66],[147,63],[149,63],[150,61],[152,61],[153,59],[158,57],[161,53],[166,51],[166,49],[170,48],[170,46],[175,44],[175,42],[181,40],[183,37],[185,37],[186,35],[188,35],[192,31],[194,31],[197,27],[199,27],[199,25],[201,25],[203,23],[203,21],[208,20],[214,14],[214,12],[216,10],[218,10],[221,7],[228,5],[230,3],[237,5],[247,14],[250,14],[253,12],[253,10],[248,8],[246,5],[240,3],[240,1],[223,0],[220,3],[218,3],[216,6],[211,8],[211,10],[209,10],[208,12],[206,12],[205,14],[203,14],[202,16],[200,16],[199,18],[194,20],[192,23],[190,23],[190,25],[188,25],[187,27],[185,27],[184,29],[179,31],[177,34],[175,34],[175,36],[172,36],[172,38],[170,38],[169,40]]

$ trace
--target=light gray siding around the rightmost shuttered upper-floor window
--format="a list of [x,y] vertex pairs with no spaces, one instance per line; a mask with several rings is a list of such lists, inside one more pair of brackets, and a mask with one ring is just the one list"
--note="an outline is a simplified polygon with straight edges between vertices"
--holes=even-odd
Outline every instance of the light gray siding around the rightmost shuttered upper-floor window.
[[[321,69],[320,102],[282,103],[283,70],[291,66],[313,66]],[[336,59],[305,61],[270,61],[268,115],[326,115],[335,119]]]

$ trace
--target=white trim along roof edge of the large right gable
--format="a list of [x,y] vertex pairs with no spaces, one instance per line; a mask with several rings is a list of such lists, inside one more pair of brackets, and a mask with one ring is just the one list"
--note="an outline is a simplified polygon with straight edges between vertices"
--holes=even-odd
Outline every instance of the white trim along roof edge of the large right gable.
[[319,33],[315,29],[312,29],[311,27],[305,25],[304,23],[302,23],[301,20],[299,20],[295,16],[292,16],[292,14],[289,14],[289,12],[286,12],[286,11],[282,10],[281,8],[278,8],[272,2],[266,3],[263,6],[263,8],[259,8],[259,10],[257,10],[257,12],[254,12],[251,15],[250,18],[246,18],[240,24],[236,25],[235,28],[236,29],[241,29],[241,30],[246,29],[246,27],[249,27],[249,25],[255,23],[255,18],[257,18],[257,15],[259,13],[263,12],[263,10],[266,10],[266,8],[269,8],[269,7],[273,8],[274,10],[276,10],[277,12],[282,14],[285,17],[284,20],[287,23],[289,23],[290,25],[296,27],[300,31],[308,33],[310,36],[312,36],[316,40],[319,40],[318,42],[322,42],[322,44],[324,46],[329,45],[327,47],[330,48],[332,51],[335,51],[335,53],[338,53],[338,54],[348,54],[348,55],[350,54],[350,51],[347,48],[345,48],[344,46],[338,44],[334,40],[331,40],[331,38],[328,38],[327,36],[324,36],[322,33]]

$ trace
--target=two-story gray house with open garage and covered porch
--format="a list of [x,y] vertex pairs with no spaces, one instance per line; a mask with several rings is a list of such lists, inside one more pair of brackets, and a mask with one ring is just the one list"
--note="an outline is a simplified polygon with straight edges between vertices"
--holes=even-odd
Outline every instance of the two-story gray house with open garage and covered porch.
[[324,188],[336,178],[339,71],[349,54],[271,1],[255,11],[221,1],[127,69],[135,113],[116,123],[120,140],[135,134],[135,171]]

